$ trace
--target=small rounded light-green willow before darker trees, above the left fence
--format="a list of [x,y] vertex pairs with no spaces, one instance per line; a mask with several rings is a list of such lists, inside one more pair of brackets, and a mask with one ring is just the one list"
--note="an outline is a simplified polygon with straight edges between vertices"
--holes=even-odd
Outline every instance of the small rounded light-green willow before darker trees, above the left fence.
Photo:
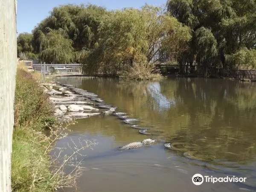
[[49,29],[40,37],[40,55],[42,61],[53,63],[70,63],[74,59],[73,41],[64,30]]

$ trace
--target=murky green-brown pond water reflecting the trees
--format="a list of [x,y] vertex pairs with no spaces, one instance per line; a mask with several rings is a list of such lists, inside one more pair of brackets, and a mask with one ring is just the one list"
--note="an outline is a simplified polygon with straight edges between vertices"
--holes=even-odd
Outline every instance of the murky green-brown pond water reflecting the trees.
[[[256,191],[256,84],[222,79],[164,79],[122,82],[116,79],[62,77],[57,81],[96,93],[116,111],[139,118],[160,134],[138,133],[116,116],[78,119],[72,138],[96,140],[85,149],[81,192]],[[157,137],[162,141],[135,151],[112,152],[126,143]],[[172,143],[172,149],[164,147]],[[244,183],[192,183],[200,173],[247,177]]]

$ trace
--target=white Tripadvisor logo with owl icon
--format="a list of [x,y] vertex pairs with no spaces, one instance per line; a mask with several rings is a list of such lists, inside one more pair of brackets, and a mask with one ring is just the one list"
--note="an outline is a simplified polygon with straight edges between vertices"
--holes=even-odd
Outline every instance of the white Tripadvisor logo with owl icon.
[[192,183],[194,183],[195,185],[201,185],[202,183],[204,182],[207,182],[207,183],[238,183],[238,182],[245,182],[247,177],[236,177],[236,176],[233,176],[233,177],[212,177],[212,176],[203,176],[201,174],[195,174],[193,175],[192,177]]

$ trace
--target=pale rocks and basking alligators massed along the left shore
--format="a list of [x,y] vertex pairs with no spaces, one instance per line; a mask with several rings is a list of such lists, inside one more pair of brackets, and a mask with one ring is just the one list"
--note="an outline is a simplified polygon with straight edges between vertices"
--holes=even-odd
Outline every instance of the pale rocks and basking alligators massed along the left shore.
[[109,115],[116,107],[106,105],[95,93],[73,87],[73,85],[59,84],[56,82],[40,84],[44,93],[50,97],[55,105],[54,115],[60,121],[84,119],[96,115]]

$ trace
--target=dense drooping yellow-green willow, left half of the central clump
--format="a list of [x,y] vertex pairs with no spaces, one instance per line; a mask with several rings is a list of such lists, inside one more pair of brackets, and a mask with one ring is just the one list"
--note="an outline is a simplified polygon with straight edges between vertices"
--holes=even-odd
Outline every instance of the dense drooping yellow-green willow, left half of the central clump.
[[146,26],[138,9],[112,11],[102,18],[99,41],[84,60],[90,73],[116,74],[120,65],[145,60]]

